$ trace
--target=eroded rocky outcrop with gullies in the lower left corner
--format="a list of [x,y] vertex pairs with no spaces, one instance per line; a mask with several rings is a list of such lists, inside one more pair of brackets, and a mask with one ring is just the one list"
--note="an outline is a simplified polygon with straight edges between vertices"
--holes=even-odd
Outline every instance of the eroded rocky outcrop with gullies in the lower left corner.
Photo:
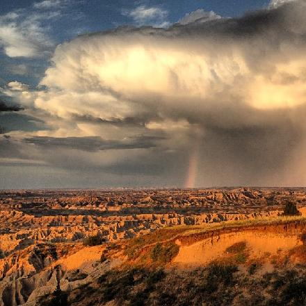
[[120,264],[100,262],[105,246],[87,248],[81,243],[38,244],[0,259],[0,306],[37,305],[58,287],[71,291],[92,282]]

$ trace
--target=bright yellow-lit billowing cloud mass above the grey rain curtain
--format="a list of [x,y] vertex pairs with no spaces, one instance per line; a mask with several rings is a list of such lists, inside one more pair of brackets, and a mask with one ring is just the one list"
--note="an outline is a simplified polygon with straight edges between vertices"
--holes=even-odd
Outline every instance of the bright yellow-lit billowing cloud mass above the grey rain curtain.
[[295,107],[305,102],[305,29],[305,3],[297,1],[214,24],[79,36],[56,49],[36,105],[102,119],[156,104],[170,117]]

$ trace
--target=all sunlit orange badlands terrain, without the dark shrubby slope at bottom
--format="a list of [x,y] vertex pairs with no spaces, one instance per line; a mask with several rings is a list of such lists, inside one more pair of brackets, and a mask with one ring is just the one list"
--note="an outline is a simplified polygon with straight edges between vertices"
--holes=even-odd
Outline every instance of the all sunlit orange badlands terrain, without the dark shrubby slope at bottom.
[[[301,213],[294,220],[282,216],[288,201]],[[292,250],[303,247],[305,207],[303,188],[2,191],[0,305],[48,305],[60,291],[69,305],[106,305],[74,295],[124,266],[183,273],[232,260],[239,243],[239,271],[262,261],[260,275],[272,273],[277,256],[303,264]],[[84,243],[92,236],[101,243]]]

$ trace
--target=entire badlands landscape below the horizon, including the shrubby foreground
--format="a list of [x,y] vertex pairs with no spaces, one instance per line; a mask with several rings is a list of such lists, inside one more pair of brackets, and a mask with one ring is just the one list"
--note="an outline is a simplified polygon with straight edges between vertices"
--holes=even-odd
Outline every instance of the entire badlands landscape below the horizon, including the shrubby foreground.
[[304,207],[304,188],[2,191],[0,305],[305,305]]

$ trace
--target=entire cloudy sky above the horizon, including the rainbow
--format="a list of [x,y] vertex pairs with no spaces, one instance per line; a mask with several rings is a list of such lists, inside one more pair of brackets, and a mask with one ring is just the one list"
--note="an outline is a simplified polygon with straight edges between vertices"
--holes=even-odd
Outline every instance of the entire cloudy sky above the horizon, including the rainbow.
[[0,188],[305,186],[303,0],[2,0]]

